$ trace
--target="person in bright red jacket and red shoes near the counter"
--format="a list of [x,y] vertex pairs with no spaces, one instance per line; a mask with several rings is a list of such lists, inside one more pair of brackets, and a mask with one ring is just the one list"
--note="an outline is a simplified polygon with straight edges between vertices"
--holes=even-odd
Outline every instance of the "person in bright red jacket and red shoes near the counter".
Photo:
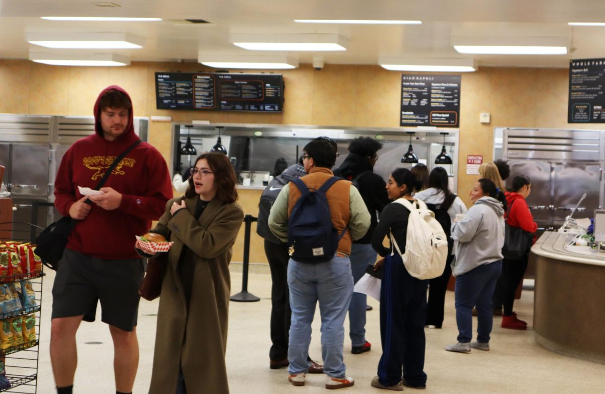
[[[538,225],[529,211],[527,202],[531,193],[531,180],[526,175],[517,175],[512,179],[512,192],[506,192],[508,202],[508,213],[506,222],[512,227],[519,227],[528,233],[535,233]],[[535,242],[535,236],[534,236]],[[502,328],[517,330],[527,329],[527,323],[517,318],[512,311],[515,302],[515,290],[523,280],[525,270],[528,268],[529,255],[520,260],[504,259],[502,263],[502,302],[504,311],[502,313]]]

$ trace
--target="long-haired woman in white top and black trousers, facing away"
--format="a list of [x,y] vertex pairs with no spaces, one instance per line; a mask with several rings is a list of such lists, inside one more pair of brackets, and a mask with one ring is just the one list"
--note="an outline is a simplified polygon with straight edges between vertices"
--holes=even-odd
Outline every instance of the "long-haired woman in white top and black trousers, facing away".
[[428,178],[429,188],[414,195],[414,198],[424,201],[427,207],[435,213],[435,218],[448,236],[448,259],[441,276],[428,281],[427,321],[428,328],[441,328],[443,324],[443,309],[445,291],[452,273],[451,263],[454,260],[454,241],[450,228],[456,215],[466,213],[466,205],[459,196],[450,191],[448,173],[443,167],[435,167]]

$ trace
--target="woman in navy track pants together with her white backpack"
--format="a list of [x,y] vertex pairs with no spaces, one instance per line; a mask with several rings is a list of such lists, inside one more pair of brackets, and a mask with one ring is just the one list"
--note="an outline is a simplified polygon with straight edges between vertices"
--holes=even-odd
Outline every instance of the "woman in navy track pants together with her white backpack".
[[[382,356],[378,376],[371,381],[371,386],[379,389],[401,391],[404,386],[415,389],[427,386],[424,372],[427,279],[443,273],[448,244],[427,205],[411,197],[421,186],[408,169],[399,168],[391,173],[387,193],[394,201],[382,210],[372,237],[372,247],[385,257],[374,268],[384,270],[380,305]],[[387,234],[390,248],[382,245]]]

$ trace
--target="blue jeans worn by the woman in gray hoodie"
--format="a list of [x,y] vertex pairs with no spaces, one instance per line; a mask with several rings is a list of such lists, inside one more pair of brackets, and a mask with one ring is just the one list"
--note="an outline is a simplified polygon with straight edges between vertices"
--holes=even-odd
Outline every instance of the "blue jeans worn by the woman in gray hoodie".
[[456,277],[456,323],[458,341],[470,342],[473,338],[473,306],[477,307],[477,341],[489,342],[493,317],[495,283],[502,271],[502,260],[483,264]]

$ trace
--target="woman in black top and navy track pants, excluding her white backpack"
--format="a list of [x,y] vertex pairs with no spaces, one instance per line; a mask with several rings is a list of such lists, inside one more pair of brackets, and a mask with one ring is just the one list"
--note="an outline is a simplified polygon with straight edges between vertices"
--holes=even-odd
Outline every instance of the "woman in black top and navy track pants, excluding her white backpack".
[[[388,178],[388,198],[416,201],[411,193],[419,187],[422,185],[410,170],[396,169]],[[371,381],[378,389],[401,391],[404,386],[415,389],[427,386],[424,323],[428,280],[412,277],[399,253],[392,253],[393,245],[388,249],[382,245],[384,237],[392,233],[399,250],[405,253],[409,217],[410,211],[403,205],[388,204],[372,237],[372,247],[385,257],[376,262],[376,267],[384,270],[380,297],[382,356],[378,376]]]

